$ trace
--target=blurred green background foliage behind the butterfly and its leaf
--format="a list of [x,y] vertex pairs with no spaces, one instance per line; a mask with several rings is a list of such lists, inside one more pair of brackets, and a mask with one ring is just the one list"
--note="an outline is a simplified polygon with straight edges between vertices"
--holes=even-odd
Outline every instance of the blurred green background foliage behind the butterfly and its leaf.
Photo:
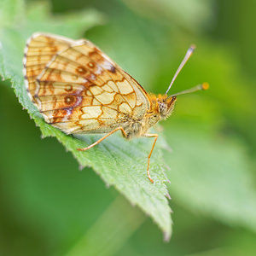
[[[28,1],[34,3],[35,1]],[[255,255],[256,16],[253,1],[52,0],[54,15],[96,9],[84,34],[150,92],[164,93],[196,44],[162,122],[172,239],[79,165],[0,86],[0,255]],[[60,32],[61,34],[61,32]],[[3,86],[2,86],[3,85]]]

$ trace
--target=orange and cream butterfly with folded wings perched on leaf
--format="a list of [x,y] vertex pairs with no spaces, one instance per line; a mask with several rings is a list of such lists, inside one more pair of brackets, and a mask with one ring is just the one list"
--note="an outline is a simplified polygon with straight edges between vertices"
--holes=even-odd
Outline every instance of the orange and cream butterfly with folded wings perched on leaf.
[[166,94],[149,95],[143,86],[86,39],[73,40],[47,33],[34,33],[26,42],[23,73],[32,103],[49,125],[67,134],[106,134],[84,151],[101,143],[116,131],[126,139],[154,137],[149,161],[158,134],[148,129],[166,119],[177,95],[206,90],[199,84],[167,96],[177,74],[189,60],[191,46],[175,73]]

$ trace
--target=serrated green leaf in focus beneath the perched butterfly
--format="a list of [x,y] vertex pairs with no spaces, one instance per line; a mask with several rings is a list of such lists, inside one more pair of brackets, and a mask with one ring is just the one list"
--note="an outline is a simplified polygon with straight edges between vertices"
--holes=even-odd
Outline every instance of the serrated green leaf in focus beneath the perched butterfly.
[[[18,8],[14,0],[9,3],[13,3],[13,6],[10,4],[13,9]],[[16,13],[19,12],[14,11],[12,14]],[[20,103],[31,114],[44,137],[56,137],[68,151],[72,152],[81,166],[91,166],[105,183],[113,185],[131,201],[132,205],[137,205],[153,218],[165,233],[166,238],[169,238],[172,220],[171,209],[166,199],[168,191],[161,153],[161,148],[166,146],[164,140],[159,140],[151,157],[150,170],[154,179],[152,184],[148,181],[146,167],[153,139],[139,138],[125,141],[123,137],[116,134],[86,152],[79,152],[77,148],[88,146],[99,136],[67,136],[46,124],[26,94],[22,78],[22,55],[26,38],[32,32],[54,32],[70,38],[79,38],[84,30],[100,23],[102,23],[102,16],[96,11],[83,10],[80,13],[55,17],[49,15],[48,5],[28,8],[27,17],[24,20],[17,19],[15,24],[6,22],[0,30],[0,74],[3,79],[11,79]]]

